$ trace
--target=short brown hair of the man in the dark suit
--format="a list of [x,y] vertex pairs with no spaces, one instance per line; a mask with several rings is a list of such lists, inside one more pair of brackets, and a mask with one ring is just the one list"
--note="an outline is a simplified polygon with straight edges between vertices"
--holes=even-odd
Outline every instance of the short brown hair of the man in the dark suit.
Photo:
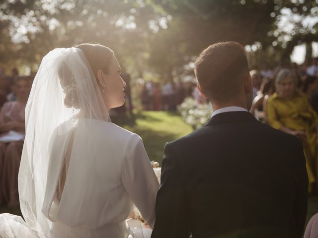
[[249,72],[244,48],[233,41],[213,44],[200,54],[194,72],[209,99],[227,102],[239,95]]

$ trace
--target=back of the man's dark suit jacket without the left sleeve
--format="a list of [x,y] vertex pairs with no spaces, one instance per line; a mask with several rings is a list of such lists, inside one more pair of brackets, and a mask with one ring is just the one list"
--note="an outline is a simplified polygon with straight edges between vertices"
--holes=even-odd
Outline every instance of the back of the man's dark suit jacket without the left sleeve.
[[168,146],[194,238],[299,237],[307,187],[296,137],[230,112]]

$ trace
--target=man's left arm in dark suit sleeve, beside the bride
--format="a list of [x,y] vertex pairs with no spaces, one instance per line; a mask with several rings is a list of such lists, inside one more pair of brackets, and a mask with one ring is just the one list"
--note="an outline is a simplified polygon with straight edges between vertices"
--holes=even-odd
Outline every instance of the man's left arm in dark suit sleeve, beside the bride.
[[184,187],[171,144],[165,144],[152,238],[188,238]]

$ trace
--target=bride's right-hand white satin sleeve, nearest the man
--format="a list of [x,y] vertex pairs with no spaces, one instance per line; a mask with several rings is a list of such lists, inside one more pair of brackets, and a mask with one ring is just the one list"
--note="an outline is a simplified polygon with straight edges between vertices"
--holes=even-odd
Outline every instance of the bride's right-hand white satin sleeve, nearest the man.
[[153,228],[159,182],[149,161],[143,140],[137,134],[131,134],[125,146],[121,179],[141,215]]

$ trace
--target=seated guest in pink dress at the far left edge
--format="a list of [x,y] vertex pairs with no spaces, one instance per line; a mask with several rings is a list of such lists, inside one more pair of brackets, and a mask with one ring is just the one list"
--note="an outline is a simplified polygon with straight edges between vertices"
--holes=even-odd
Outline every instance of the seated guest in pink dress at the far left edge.
[[[17,101],[6,102],[0,111],[1,136],[10,130],[25,133],[25,105],[30,93],[30,83],[26,77],[14,80],[14,94]],[[0,138],[1,138],[0,136]],[[19,205],[17,177],[22,154],[23,141],[0,142],[0,203],[7,206]]]

